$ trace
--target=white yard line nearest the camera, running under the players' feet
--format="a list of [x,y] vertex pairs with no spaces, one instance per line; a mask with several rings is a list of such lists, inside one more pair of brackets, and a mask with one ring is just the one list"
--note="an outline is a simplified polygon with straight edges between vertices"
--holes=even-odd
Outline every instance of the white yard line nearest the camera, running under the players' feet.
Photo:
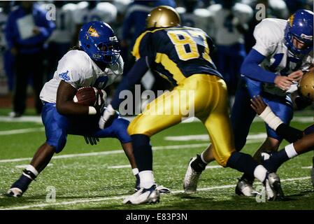
[[[285,181],[301,181],[305,179],[310,179],[311,177],[305,176],[305,177],[299,177],[299,178],[292,178],[292,179],[284,179],[281,180],[282,182]],[[224,185],[224,186],[213,186],[210,188],[199,188],[198,191],[208,191],[208,190],[216,190],[216,189],[223,189],[223,188],[234,188],[236,185]],[[183,190],[173,190],[171,191],[171,194],[177,194],[177,193],[183,193]],[[119,196],[119,197],[102,197],[97,199],[85,199],[85,200],[74,200],[71,202],[57,202],[57,203],[43,203],[43,204],[32,204],[32,205],[25,205],[22,207],[8,207],[5,209],[0,210],[16,210],[16,209],[31,209],[31,208],[40,208],[40,207],[52,207],[54,205],[69,205],[69,204],[80,204],[80,203],[90,203],[90,202],[104,202],[108,200],[122,200],[124,197],[127,197],[127,195]]]

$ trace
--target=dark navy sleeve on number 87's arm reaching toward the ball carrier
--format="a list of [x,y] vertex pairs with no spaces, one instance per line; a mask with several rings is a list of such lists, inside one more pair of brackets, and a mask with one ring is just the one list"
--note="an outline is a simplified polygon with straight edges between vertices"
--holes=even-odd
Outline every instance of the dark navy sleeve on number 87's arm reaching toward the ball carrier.
[[122,92],[122,90],[131,90],[134,85],[138,83],[139,80],[141,80],[141,78],[145,75],[146,71],[148,71],[148,63],[146,62],[145,57],[142,57],[136,61],[129,73],[127,73],[127,76],[124,76],[121,83],[118,85],[111,102],[113,109],[118,109],[120,103],[124,100],[120,99],[120,92]]

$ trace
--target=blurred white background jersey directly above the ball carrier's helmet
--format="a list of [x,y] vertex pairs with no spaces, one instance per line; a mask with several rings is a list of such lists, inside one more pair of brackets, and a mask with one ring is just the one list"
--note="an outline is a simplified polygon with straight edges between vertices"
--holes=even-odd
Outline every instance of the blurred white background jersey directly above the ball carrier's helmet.
[[116,18],[117,8],[109,2],[98,3],[97,6],[92,9],[89,9],[87,5],[78,6],[78,10],[74,13],[74,22],[77,25],[82,25],[94,20],[103,21],[110,25]]

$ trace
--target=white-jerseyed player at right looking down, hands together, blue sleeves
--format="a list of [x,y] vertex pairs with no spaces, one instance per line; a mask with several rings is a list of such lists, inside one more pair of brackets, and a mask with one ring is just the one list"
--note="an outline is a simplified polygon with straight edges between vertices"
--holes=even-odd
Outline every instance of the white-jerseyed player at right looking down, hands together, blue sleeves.
[[[256,44],[241,66],[241,87],[231,113],[236,150],[245,146],[255,111],[250,99],[260,95],[273,113],[285,124],[293,116],[290,92],[297,90],[297,81],[303,71],[313,66],[313,12],[298,10],[289,20],[265,19],[254,31]],[[267,139],[255,154],[259,159],[262,151],[277,151],[282,137],[266,125]],[[197,181],[208,162],[213,161],[211,146],[192,158],[185,175],[185,187],[197,189]],[[194,167],[194,168],[193,168]],[[253,196],[253,179],[242,176],[236,186],[238,195]]]

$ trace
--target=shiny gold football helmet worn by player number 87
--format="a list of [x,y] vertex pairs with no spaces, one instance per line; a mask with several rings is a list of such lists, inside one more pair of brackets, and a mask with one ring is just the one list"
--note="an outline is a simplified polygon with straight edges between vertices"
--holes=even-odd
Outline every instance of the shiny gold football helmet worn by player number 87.
[[180,15],[170,6],[157,6],[146,18],[146,28],[180,26]]

